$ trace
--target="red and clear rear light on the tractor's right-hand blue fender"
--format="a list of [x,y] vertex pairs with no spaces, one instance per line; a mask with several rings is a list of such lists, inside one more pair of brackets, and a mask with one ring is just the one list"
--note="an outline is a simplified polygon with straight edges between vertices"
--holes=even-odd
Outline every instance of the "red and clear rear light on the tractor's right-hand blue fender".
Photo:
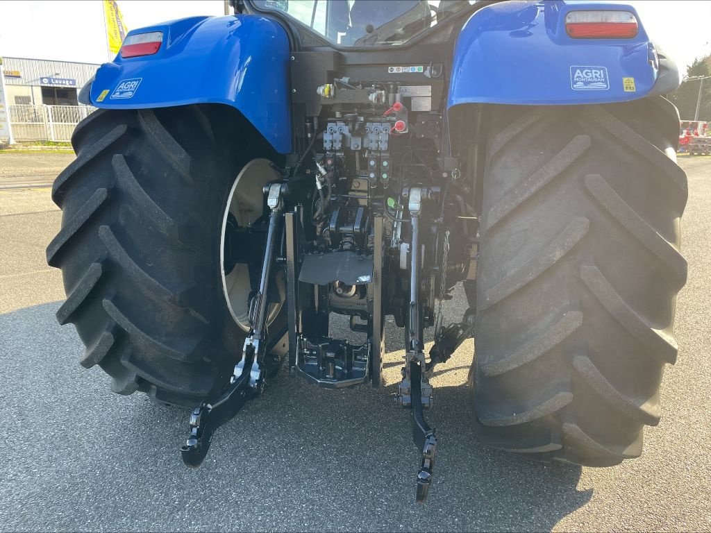
[[630,11],[570,11],[565,31],[574,39],[631,39],[639,26]]

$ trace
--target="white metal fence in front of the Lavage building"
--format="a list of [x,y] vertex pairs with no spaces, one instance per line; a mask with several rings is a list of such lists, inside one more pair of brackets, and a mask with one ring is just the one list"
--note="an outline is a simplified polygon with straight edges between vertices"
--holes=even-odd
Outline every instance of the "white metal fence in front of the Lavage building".
[[96,111],[87,105],[10,104],[15,141],[69,141],[77,124]]

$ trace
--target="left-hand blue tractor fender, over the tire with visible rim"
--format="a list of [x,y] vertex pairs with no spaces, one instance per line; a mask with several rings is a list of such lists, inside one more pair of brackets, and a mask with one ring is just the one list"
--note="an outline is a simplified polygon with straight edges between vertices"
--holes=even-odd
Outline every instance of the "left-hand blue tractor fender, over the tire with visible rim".
[[238,109],[281,154],[292,151],[289,39],[255,15],[192,17],[129,32],[162,31],[158,53],[117,55],[97,70],[90,101],[102,109],[219,103]]

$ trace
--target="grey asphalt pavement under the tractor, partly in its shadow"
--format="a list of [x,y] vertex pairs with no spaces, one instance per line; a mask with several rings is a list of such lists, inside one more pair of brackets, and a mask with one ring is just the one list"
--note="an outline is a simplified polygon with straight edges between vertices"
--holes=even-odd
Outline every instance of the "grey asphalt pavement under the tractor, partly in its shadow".
[[[679,357],[643,456],[581,468],[484,448],[467,402],[469,340],[432,380],[440,446],[426,505],[414,502],[410,420],[390,397],[404,355],[392,323],[387,387],[328,391],[282,372],[187,470],[188,413],[110,392],[102,371],[80,367],[73,327],[55,321],[63,288],[44,249],[61,215],[49,189],[0,191],[0,530],[711,530],[711,158],[681,164]],[[464,306],[460,292],[449,318]]]

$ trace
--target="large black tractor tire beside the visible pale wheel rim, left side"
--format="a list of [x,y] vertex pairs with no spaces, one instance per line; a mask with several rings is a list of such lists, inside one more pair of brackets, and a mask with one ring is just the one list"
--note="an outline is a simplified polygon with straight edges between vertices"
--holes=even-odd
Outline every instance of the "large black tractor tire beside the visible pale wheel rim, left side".
[[102,367],[118,394],[195,407],[228,384],[242,352],[220,231],[240,168],[272,153],[230,113],[99,110],[73,134],[77,158],[53,185],[63,217],[47,262],[62,270],[57,318],[85,344],[81,365]]

